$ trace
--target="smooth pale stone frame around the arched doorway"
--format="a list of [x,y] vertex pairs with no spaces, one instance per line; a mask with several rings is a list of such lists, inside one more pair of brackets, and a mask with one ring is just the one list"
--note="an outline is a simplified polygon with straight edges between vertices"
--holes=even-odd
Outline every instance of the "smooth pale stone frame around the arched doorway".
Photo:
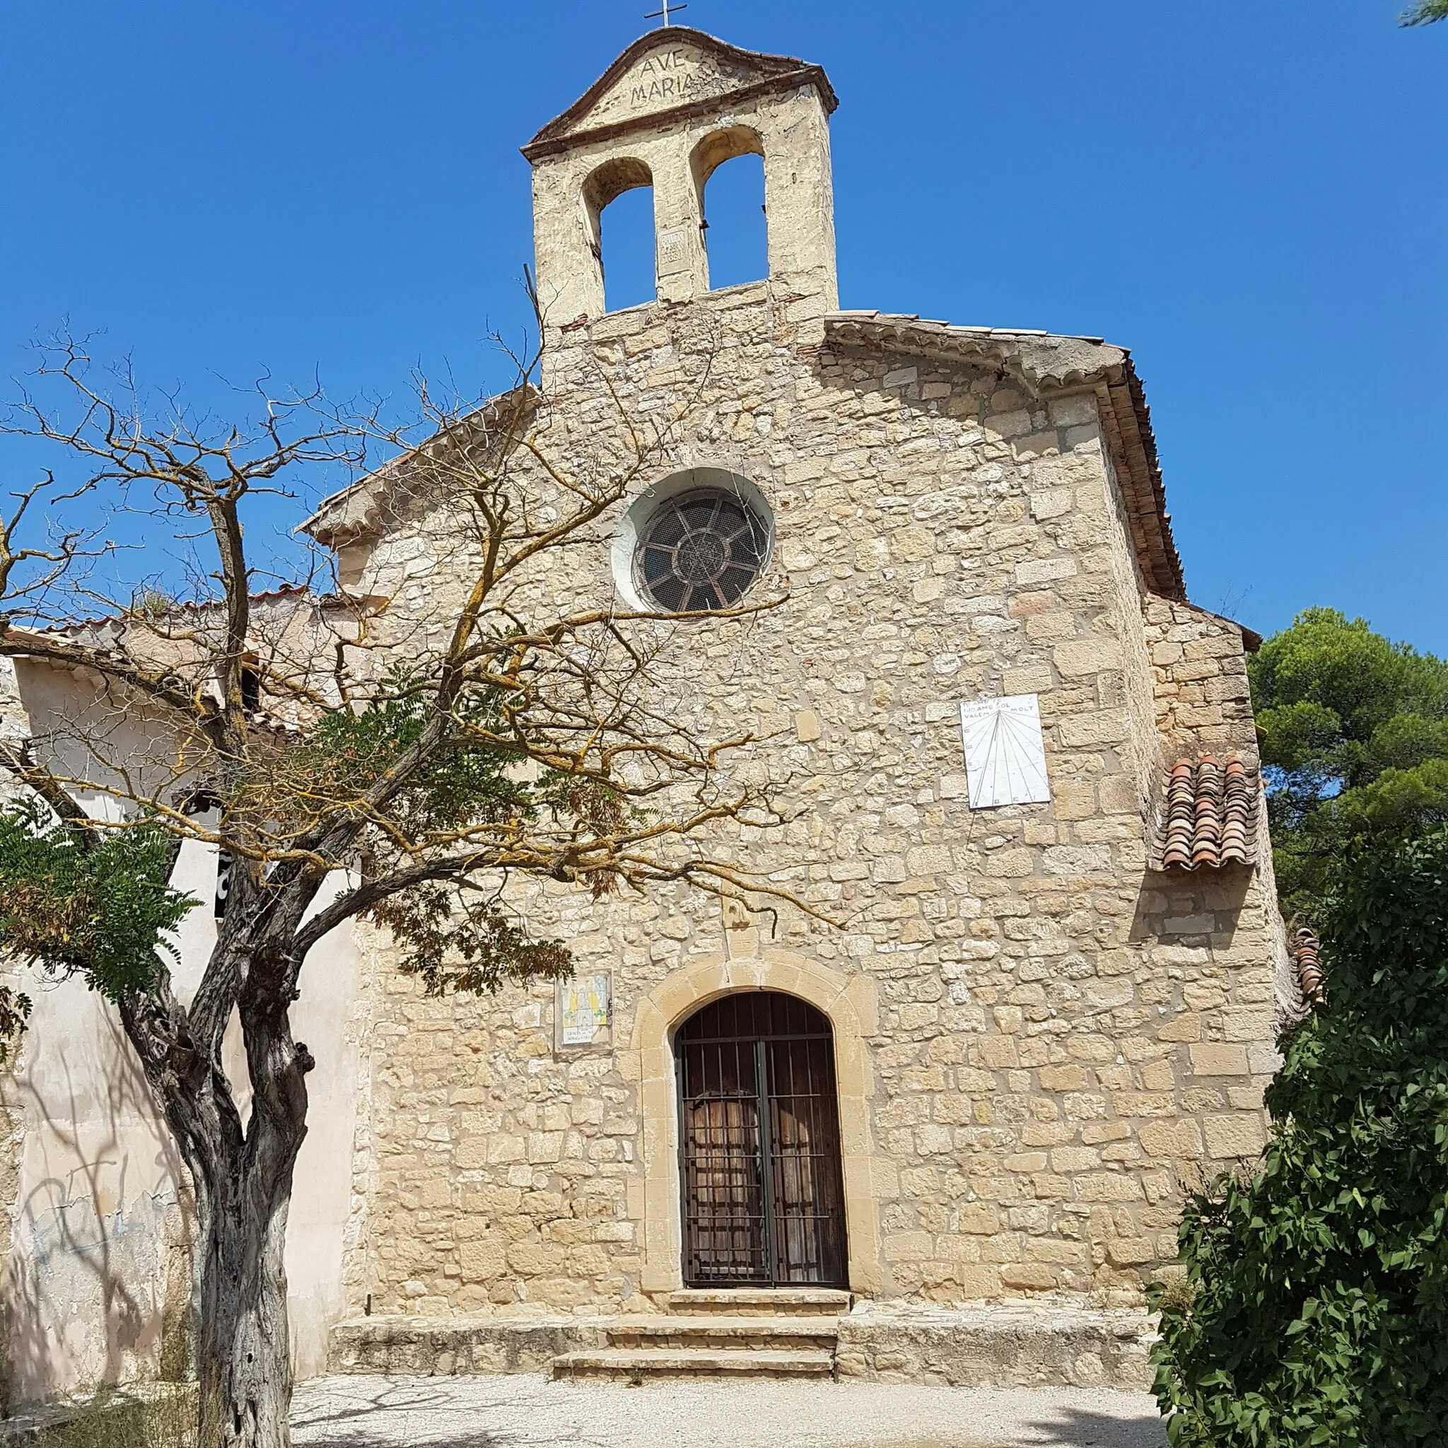
[[743,960],[718,956],[675,970],[634,1008],[620,1066],[634,1082],[643,1118],[643,1176],[630,1183],[628,1200],[628,1215],[643,1237],[640,1286],[646,1293],[659,1293],[678,1292],[683,1284],[673,1032],[699,1006],[734,990],[782,990],[830,1018],[850,1290],[875,1296],[880,1290],[880,1187],[893,1176],[892,1164],[876,1154],[870,1122],[875,1070],[866,1038],[876,1034],[875,982],[866,975],[840,975],[785,950]]

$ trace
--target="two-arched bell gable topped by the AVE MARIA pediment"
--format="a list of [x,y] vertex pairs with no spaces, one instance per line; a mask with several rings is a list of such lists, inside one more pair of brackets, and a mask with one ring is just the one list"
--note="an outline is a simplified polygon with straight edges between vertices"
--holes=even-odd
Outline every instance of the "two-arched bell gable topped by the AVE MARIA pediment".
[[759,55],[702,30],[643,36],[524,148],[533,167],[533,239],[544,326],[604,314],[604,211],[653,185],[657,300],[710,291],[704,187],[715,167],[765,161],[769,278],[795,320],[838,306],[830,114],[818,65]]

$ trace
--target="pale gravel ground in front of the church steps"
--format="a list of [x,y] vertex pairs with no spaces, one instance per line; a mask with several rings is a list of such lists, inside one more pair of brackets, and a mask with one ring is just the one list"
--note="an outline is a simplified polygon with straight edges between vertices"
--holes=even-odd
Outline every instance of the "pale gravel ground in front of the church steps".
[[898,1383],[333,1377],[297,1389],[298,1448],[1163,1448],[1145,1393]]

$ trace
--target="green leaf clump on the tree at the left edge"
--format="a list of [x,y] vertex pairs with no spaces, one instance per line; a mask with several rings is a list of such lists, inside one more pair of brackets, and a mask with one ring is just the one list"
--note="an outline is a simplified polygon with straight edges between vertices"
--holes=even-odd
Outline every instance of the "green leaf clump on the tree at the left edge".
[[152,989],[158,947],[195,905],[167,883],[172,854],[158,825],[84,850],[35,802],[0,809],[0,948],[111,1001]]

